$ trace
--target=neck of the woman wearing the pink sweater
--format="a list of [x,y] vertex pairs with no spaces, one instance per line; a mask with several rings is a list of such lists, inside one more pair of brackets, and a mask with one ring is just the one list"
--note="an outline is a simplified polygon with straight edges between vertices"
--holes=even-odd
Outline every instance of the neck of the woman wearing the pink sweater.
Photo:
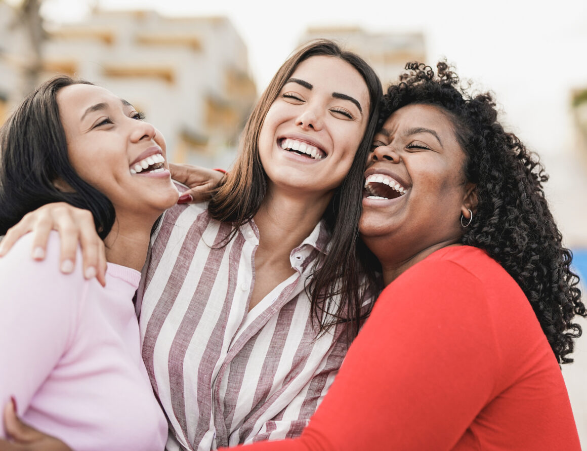
[[145,218],[130,220],[117,215],[112,230],[104,239],[106,260],[140,271],[147,258],[153,223]]

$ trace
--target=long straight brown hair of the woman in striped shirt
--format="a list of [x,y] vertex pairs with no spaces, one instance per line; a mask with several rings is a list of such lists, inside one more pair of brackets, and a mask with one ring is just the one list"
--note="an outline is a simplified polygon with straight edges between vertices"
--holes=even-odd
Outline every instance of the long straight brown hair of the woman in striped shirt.
[[[356,257],[363,172],[376,130],[377,110],[382,96],[379,78],[365,60],[356,53],[343,51],[335,42],[326,39],[309,42],[290,56],[252,111],[242,134],[237,160],[223,186],[212,197],[208,211],[216,220],[232,222],[233,233],[255,216],[267,190],[267,175],[258,149],[259,132],[265,115],[299,63],[312,56],[333,56],[349,63],[360,73],[369,90],[369,122],[365,136],[359,144],[349,173],[335,191],[323,216],[332,234],[329,252],[309,278],[306,287],[311,296],[313,318],[318,320],[321,331],[339,322],[350,321],[354,325],[354,335],[359,331],[359,320],[362,317],[360,305],[367,287],[361,281],[362,268]],[[329,315],[325,315],[325,311]]]

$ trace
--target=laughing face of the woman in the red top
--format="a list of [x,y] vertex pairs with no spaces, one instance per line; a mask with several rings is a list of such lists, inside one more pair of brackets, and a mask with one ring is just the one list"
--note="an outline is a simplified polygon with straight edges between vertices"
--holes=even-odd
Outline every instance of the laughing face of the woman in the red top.
[[385,267],[457,243],[474,185],[453,123],[439,107],[405,106],[375,135],[365,171],[360,233]]

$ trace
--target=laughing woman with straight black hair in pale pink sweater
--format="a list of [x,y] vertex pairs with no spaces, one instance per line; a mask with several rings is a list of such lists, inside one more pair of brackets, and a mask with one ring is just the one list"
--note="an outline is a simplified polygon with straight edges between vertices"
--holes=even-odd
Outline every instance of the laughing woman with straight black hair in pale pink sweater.
[[178,193],[164,139],[141,119],[108,90],[59,77],[0,134],[0,234],[27,211],[65,201],[93,212],[105,243],[106,288],[80,270],[58,271],[56,234],[44,262],[30,260],[29,236],[0,260],[0,402],[12,397],[26,422],[78,451],[162,450],[167,439],[131,299],[151,227]]

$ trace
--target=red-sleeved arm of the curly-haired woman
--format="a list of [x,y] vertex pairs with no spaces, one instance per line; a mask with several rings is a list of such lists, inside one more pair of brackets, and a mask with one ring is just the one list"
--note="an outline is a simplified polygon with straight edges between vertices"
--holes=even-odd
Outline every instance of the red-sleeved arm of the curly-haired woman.
[[500,372],[491,314],[480,282],[456,264],[412,269],[377,300],[302,436],[252,450],[456,445]]

